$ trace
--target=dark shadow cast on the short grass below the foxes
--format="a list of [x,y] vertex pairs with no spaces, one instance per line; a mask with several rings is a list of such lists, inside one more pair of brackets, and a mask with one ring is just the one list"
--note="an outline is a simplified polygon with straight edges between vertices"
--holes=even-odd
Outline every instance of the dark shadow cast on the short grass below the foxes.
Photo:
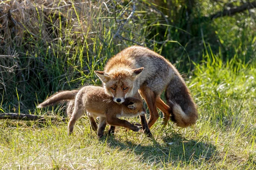
[[163,166],[166,164],[200,165],[202,162],[213,161],[218,156],[213,144],[186,140],[180,134],[163,138],[164,143],[162,144],[152,141],[146,146],[130,141],[120,142],[114,136],[108,136],[102,140],[107,140],[108,145],[112,148],[129,150],[129,152],[141,156],[144,163],[162,164]]

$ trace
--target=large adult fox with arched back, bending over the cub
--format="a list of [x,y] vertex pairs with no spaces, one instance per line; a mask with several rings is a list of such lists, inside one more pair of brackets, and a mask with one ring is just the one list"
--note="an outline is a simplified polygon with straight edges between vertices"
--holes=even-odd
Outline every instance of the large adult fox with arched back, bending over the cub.
[[[164,57],[141,46],[125,48],[109,59],[104,71],[95,71],[102,80],[106,94],[121,104],[139,90],[145,99],[150,117],[150,128],[164,114],[164,124],[171,119],[179,127],[192,125],[198,112],[189,89],[177,69]],[[165,90],[167,105],[160,99]]]

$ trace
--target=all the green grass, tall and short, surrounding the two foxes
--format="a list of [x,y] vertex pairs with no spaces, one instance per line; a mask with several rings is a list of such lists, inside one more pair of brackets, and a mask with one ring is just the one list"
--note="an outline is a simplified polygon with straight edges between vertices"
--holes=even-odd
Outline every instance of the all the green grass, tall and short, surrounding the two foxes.
[[[116,6],[121,10],[116,19],[124,19],[119,22],[125,23],[130,11],[122,13],[132,10],[133,2]],[[100,85],[93,71],[102,70],[107,59],[135,41],[163,54],[184,73],[199,119],[181,129],[172,122],[162,128],[159,118],[151,129],[154,140],[120,127],[114,137],[99,140],[86,117],[76,123],[72,136],[67,136],[67,122],[0,120],[0,169],[256,169],[256,27],[250,17],[238,14],[201,23],[200,36],[189,44],[179,39],[186,32],[175,27],[183,23],[168,25],[154,11],[161,8],[136,1],[133,22],[120,31],[129,41],[113,38],[120,27],[114,3],[106,8],[103,1],[47,1],[44,6],[26,4],[26,10],[19,8],[23,1],[5,3],[17,9],[12,17],[24,28],[10,28],[7,17],[0,17],[0,54],[19,54],[15,74],[0,67],[0,81],[6,85],[0,86],[0,112],[62,115],[63,105],[35,106],[52,92]],[[0,8],[7,13],[7,5],[0,3]],[[163,44],[152,41],[168,36],[172,40]],[[0,58],[2,64],[9,67],[13,60]]]

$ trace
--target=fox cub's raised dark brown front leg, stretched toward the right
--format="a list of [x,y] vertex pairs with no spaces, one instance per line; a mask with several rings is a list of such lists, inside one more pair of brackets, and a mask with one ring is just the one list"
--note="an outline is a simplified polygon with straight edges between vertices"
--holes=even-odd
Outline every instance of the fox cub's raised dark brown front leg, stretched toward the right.
[[134,132],[138,132],[140,130],[139,127],[132,125],[130,122],[118,119],[116,117],[107,117],[106,121],[109,125],[126,127],[133,130]]

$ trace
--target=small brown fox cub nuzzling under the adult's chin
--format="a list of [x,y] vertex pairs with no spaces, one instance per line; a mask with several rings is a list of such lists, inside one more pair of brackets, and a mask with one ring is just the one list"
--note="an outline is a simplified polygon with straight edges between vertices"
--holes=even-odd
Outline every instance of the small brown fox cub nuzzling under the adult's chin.
[[[74,96],[75,100],[74,100]],[[67,112],[73,111],[70,122],[68,124],[68,135],[73,132],[76,121],[87,112],[90,120],[90,125],[93,130],[97,130],[97,124],[94,120],[99,116],[99,128],[97,135],[103,136],[106,124],[113,126],[127,127],[133,131],[139,131],[140,128],[132,125],[130,122],[119,117],[141,116],[145,119],[145,108],[140,94],[135,94],[134,97],[128,98],[122,105],[113,102],[112,97],[105,94],[104,88],[96,86],[85,86],[79,91],[63,91],[46,99],[43,103],[38,105],[38,108],[43,108],[56,102],[70,100]],[[147,122],[142,122],[147,124]]]

